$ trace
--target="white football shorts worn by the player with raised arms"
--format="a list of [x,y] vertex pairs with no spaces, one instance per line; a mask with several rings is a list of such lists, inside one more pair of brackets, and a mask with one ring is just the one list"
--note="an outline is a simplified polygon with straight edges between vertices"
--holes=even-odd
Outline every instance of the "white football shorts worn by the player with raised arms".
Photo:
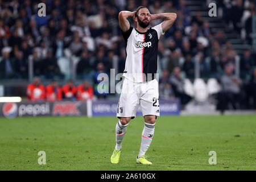
[[117,117],[136,117],[138,106],[145,115],[160,115],[158,81],[133,82],[124,77]]

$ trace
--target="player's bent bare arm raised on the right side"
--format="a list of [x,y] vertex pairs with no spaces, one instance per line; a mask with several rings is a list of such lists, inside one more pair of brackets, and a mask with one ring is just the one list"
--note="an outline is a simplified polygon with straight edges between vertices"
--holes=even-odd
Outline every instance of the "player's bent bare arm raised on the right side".
[[176,13],[160,13],[160,14],[152,14],[151,15],[151,20],[154,20],[154,19],[164,20],[162,22],[163,32],[166,32],[169,28],[171,28],[171,26],[172,26],[172,24],[174,24],[176,18],[177,18]]

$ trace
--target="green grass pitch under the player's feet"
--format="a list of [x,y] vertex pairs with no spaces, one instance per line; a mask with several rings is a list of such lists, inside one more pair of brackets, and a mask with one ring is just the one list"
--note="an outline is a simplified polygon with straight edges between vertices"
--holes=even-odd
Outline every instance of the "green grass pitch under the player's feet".
[[[146,155],[135,164],[143,118],[131,120],[119,164],[111,164],[115,117],[0,119],[0,170],[256,170],[256,116],[174,116],[156,119]],[[38,152],[46,152],[46,165]],[[208,163],[216,151],[217,164]]]

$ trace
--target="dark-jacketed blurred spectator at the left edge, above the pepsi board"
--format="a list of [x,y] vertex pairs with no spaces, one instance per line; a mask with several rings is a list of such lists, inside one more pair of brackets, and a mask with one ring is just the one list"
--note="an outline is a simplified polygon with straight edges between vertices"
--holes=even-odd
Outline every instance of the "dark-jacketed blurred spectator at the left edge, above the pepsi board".
[[14,78],[15,76],[15,65],[13,60],[10,58],[10,47],[2,49],[3,59],[0,62],[0,77],[1,78]]

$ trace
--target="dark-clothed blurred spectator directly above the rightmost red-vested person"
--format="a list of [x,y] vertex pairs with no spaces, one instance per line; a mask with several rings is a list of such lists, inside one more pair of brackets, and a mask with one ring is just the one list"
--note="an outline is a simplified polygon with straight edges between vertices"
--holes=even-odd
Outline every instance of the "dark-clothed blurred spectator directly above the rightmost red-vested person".
[[80,60],[76,66],[77,76],[79,78],[83,78],[84,76],[86,76],[88,73],[92,71],[93,71],[93,66],[90,64],[88,52],[82,51]]

